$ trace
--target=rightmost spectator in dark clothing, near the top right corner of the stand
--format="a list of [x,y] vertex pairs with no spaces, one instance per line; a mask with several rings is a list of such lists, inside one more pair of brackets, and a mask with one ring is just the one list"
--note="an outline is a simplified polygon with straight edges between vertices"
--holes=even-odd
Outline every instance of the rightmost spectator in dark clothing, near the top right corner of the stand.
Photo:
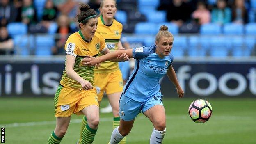
[[244,0],[235,0],[232,7],[232,22],[245,24],[248,23],[247,9]]

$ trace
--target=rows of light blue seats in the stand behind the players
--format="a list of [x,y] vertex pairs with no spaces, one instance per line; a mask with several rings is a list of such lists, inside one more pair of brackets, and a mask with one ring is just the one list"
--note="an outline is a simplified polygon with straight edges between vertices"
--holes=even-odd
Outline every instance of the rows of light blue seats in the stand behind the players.
[[[46,0],[34,0],[37,12],[37,23],[40,23]],[[155,34],[161,25],[167,25],[174,34],[172,53],[177,56],[255,56],[256,55],[256,0],[245,1],[249,23],[207,23],[200,26],[197,34],[182,34],[181,25],[167,21],[167,11],[157,10],[166,0],[118,0],[118,11],[115,16],[123,24],[123,35],[127,36],[131,46],[151,46]],[[207,0],[208,6],[216,4],[216,0]],[[192,3],[188,6],[194,7]],[[229,4],[230,7],[230,4]],[[231,8],[231,7],[230,7]],[[97,10],[97,9],[96,9]],[[210,11],[212,9],[209,9]],[[60,13],[57,15],[59,16]],[[190,23],[194,21],[186,21]],[[194,22],[193,22],[194,23]],[[7,24],[7,30],[14,39],[15,55],[52,55],[51,47],[55,45],[54,34],[57,21],[46,28],[46,33],[30,32],[32,25],[17,20]],[[71,23],[72,32],[77,24]],[[219,50],[219,52],[218,52]]]

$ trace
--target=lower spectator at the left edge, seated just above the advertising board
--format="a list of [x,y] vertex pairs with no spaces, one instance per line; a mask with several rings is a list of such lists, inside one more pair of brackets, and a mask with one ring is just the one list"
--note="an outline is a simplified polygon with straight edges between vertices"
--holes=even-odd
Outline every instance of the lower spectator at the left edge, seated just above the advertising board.
[[0,28],[0,55],[13,54],[14,41],[8,34],[6,27]]

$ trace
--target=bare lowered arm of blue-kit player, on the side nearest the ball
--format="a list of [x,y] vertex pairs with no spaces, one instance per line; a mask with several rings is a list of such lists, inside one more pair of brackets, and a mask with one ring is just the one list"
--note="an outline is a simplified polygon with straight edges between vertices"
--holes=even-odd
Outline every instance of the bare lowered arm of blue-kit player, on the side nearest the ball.
[[176,77],[176,73],[175,73],[174,68],[172,66],[169,66],[168,71],[167,71],[167,76],[168,76],[169,80],[171,80],[171,82],[175,85],[179,98],[182,98],[184,96],[184,92],[183,92],[183,89],[181,88],[181,86],[178,82],[178,79]]

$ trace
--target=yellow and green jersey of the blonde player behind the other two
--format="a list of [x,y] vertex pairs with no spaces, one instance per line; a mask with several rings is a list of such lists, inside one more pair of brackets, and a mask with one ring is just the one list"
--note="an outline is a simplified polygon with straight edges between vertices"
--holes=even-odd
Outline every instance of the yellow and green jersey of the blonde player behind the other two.
[[[117,44],[121,38],[123,25],[114,19],[111,25],[105,25],[103,17],[98,17],[98,28],[96,33],[101,34],[106,41],[107,48],[110,51],[117,50]],[[102,54],[99,53],[99,56]],[[118,62],[102,62],[98,69],[95,69],[95,73],[111,73],[119,69]]]

